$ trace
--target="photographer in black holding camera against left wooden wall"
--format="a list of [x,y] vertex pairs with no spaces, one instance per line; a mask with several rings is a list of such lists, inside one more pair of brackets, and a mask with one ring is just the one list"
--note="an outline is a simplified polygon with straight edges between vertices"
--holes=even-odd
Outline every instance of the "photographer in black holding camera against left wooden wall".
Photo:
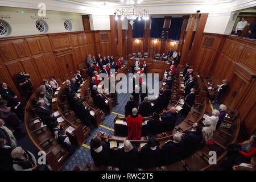
[[26,100],[28,100],[32,95],[32,88],[30,85],[30,75],[26,72],[19,72],[18,82],[19,82],[19,86],[22,88],[24,92],[24,96],[26,97]]

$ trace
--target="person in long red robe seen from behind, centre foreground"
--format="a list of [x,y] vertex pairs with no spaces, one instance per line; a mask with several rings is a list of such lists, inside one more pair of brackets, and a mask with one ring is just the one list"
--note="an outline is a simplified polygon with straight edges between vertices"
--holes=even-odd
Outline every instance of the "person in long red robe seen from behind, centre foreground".
[[128,115],[126,118],[126,123],[128,127],[128,138],[132,140],[141,139],[141,128],[142,128],[142,115],[137,114],[137,108],[133,108],[132,114]]

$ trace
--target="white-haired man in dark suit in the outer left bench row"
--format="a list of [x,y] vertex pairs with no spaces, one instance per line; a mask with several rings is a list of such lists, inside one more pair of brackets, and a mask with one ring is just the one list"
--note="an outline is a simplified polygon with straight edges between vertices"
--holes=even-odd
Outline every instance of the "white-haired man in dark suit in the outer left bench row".
[[43,100],[39,100],[36,107],[36,114],[47,127],[52,131],[54,124],[57,122],[53,115],[52,109],[44,104]]

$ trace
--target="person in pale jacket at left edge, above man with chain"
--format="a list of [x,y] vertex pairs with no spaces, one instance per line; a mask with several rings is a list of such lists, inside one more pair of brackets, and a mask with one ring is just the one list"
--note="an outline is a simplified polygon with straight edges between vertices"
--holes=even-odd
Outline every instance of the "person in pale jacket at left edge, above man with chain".
[[0,119],[0,138],[4,138],[7,141],[7,145],[15,148],[17,146],[17,140],[13,135],[13,132],[5,126],[5,121]]

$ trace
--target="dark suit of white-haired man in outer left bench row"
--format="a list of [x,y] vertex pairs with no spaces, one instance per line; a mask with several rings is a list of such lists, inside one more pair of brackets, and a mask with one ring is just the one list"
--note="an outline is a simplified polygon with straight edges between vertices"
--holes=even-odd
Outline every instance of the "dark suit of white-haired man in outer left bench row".
[[47,105],[45,105],[44,108],[45,109],[43,109],[40,106],[36,107],[36,114],[41,119],[41,121],[44,123],[44,125],[47,125],[47,127],[50,130],[52,130],[53,125],[56,122],[56,119],[55,119],[55,117],[51,117],[52,110]]

